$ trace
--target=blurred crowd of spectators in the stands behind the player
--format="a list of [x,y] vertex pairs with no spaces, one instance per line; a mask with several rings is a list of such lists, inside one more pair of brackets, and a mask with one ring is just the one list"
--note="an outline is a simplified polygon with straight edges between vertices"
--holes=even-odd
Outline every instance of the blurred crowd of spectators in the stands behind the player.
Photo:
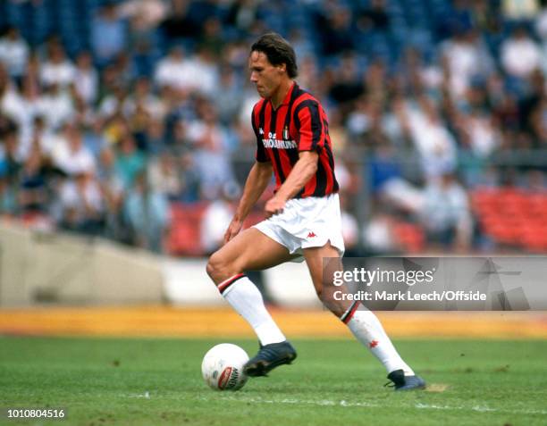
[[495,247],[469,194],[547,185],[538,0],[7,0],[0,25],[0,213],[34,226],[161,252],[205,205],[213,251],[254,159],[248,46],[268,30],[327,107],[349,254],[400,250],[401,221],[422,249]]

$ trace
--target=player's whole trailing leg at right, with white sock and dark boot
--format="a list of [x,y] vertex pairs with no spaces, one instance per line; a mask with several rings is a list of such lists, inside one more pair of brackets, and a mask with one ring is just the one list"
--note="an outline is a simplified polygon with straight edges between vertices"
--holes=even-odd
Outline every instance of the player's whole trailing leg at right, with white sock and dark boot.
[[[348,325],[358,341],[383,363],[388,378],[397,389],[423,388],[425,382],[402,360],[376,315],[358,302],[336,300],[334,297],[335,291],[347,292],[344,286],[334,286],[332,280],[332,272],[341,271],[342,268],[338,250],[328,242],[325,246],[305,248],[303,251],[317,296],[324,306]],[[328,269],[326,273],[324,268]]]

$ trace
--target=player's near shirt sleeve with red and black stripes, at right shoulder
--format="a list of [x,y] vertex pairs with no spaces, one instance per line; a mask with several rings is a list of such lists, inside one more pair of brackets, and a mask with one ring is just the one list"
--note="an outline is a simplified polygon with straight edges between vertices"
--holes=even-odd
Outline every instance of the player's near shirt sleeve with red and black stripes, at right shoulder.
[[299,151],[320,152],[324,146],[324,125],[319,104],[313,100],[299,104],[294,122],[299,130]]

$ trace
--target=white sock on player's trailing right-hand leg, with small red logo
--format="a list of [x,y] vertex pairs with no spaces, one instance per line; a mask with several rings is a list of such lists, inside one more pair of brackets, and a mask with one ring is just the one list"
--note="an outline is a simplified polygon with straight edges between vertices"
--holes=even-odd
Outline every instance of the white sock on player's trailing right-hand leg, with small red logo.
[[370,352],[381,362],[388,373],[403,370],[405,376],[413,376],[414,372],[405,363],[385,333],[382,323],[371,311],[358,304],[351,305],[349,310],[341,316],[342,322],[348,325],[349,330]]

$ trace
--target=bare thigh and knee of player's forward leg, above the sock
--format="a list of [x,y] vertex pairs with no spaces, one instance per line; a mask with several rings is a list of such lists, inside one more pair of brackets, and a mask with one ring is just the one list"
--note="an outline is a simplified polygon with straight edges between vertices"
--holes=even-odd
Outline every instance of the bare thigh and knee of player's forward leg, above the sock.
[[249,228],[211,255],[207,271],[218,284],[242,271],[262,271],[292,257],[287,247],[256,228]]

